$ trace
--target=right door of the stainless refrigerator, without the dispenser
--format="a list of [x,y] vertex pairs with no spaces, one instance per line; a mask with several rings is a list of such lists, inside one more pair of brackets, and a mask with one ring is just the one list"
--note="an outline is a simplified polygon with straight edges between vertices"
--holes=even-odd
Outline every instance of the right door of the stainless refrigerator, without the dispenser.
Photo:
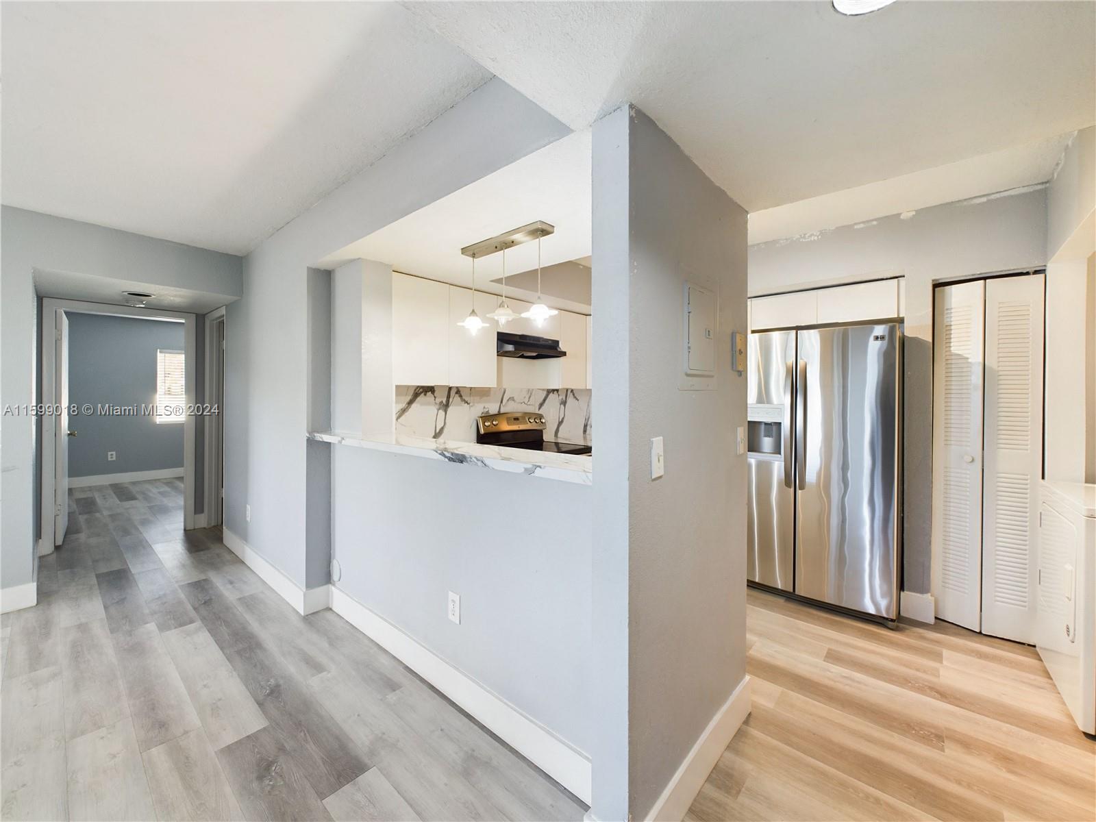
[[898,324],[799,332],[796,593],[898,618]]

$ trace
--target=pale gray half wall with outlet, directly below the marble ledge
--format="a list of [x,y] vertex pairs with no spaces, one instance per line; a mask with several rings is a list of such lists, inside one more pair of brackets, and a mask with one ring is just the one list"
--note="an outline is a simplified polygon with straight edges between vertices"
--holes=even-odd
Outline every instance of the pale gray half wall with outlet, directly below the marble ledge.
[[589,751],[592,503],[589,486],[336,446],[339,587]]

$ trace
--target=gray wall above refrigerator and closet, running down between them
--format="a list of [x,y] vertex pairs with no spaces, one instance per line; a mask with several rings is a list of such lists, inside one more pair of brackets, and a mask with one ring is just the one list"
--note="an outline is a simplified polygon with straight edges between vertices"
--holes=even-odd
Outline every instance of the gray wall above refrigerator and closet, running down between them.
[[750,293],[766,294],[846,278],[905,276],[904,579],[906,591],[932,582],[933,283],[1034,269],[1047,262],[1047,190],[983,203],[920,209],[913,219],[882,217],[814,240],[750,247]]

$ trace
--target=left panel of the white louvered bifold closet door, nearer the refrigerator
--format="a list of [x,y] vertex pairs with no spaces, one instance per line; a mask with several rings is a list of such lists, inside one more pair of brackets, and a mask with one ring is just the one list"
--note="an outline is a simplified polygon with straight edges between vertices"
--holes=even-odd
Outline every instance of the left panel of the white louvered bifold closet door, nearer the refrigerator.
[[936,289],[933,332],[933,593],[936,615],[980,630],[985,283]]

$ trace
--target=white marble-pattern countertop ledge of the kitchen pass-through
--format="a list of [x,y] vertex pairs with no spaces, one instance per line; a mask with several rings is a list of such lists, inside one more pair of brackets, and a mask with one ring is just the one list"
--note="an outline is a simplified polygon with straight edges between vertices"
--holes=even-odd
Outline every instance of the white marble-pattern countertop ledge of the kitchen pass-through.
[[495,471],[524,473],[528,477],[578,482],[583,486],[593,483],[593,458],[589,455],[550,454],[524,448],[504,448],[498,445],[431,439],[403,434],[363,436],[362,434],[346,434],[335,431],[317,431],[310,432],[308,438],[321,443],[350,445],[356,448],[409,454],[427,459],[444,459],[447,463],[463,463]]

